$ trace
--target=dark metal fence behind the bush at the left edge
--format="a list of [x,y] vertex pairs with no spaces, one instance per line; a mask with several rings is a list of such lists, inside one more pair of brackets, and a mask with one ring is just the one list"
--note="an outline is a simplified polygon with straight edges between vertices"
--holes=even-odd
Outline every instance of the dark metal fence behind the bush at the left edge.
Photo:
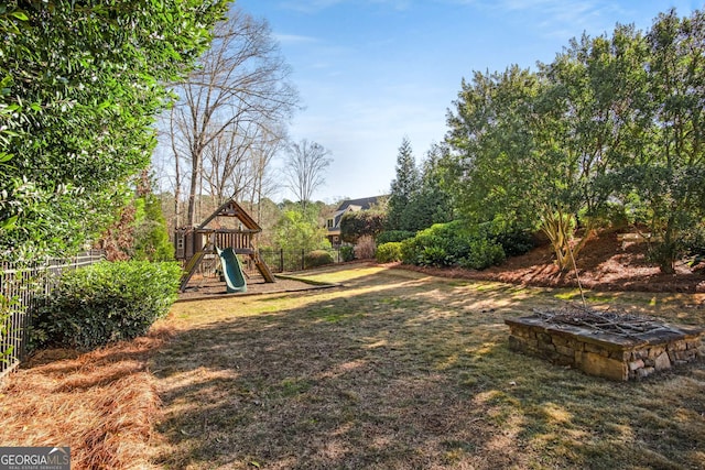
[[0,378],[17,368],[29,352],[29,330],[32,321],[32,308],[39,298],[48,295],[64,270],[97,263],[105,259],[105,252],[91,250],[69,259],[47,259],[43,263],[20,266],[0,263],[0,352],[10,350],[10,354],[0,356]]

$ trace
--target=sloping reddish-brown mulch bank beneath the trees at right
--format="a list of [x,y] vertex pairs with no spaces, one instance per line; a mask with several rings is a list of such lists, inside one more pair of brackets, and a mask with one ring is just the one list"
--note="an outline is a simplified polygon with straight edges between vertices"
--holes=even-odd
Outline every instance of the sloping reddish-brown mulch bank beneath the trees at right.
[[[576,260],[581,284],[593,291],[639,291],[705,293],[705,266],[691,267],[687,262],[675,266],[675,274],[662,274],[647,260],[647,243],[621,242],[617,233],[605,233],[589,240]],[[575,272],[561,273],[553,262],[550,245],[510,258],[500,266],[485,271],[401,266],[429,274],[500,281],[544,287],[577,287]]]

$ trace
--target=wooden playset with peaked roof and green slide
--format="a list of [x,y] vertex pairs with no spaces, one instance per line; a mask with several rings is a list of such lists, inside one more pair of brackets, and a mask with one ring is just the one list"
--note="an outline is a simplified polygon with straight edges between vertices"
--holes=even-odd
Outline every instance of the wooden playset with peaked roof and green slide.
[[[226,218],[225,221],[221,218]],[[176,260],[185,261],[180,291],[186,289],[194,273],[210,254],[217,254],[220,260],[220,274],[228,293],[247,291],[246,274],[238,254],[250,258],[264,282],[275,282],[274,275],[252,243],[252,237],[261,231],[262,228],[232,198],[218,207],[198,227],[176,229]]]

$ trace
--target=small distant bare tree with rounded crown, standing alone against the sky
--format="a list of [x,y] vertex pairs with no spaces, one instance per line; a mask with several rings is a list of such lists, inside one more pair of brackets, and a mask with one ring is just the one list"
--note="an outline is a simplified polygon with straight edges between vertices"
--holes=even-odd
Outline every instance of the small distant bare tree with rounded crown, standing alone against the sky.
[[330,152],[306,139],[291,143],[286,155],[284,175],[289,188],[296,195],[303,208],[311,203],[314,190],[325,183],[324,171],[330,162]]

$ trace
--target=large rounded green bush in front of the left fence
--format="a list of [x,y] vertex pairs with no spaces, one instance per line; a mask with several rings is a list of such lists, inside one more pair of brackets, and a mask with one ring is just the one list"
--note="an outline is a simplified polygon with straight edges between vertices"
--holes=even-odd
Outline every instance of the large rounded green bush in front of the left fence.
[[181,267],[101,262],[65,271],[35,311],[36,346],[93,349],[144,335],[176,299]]

